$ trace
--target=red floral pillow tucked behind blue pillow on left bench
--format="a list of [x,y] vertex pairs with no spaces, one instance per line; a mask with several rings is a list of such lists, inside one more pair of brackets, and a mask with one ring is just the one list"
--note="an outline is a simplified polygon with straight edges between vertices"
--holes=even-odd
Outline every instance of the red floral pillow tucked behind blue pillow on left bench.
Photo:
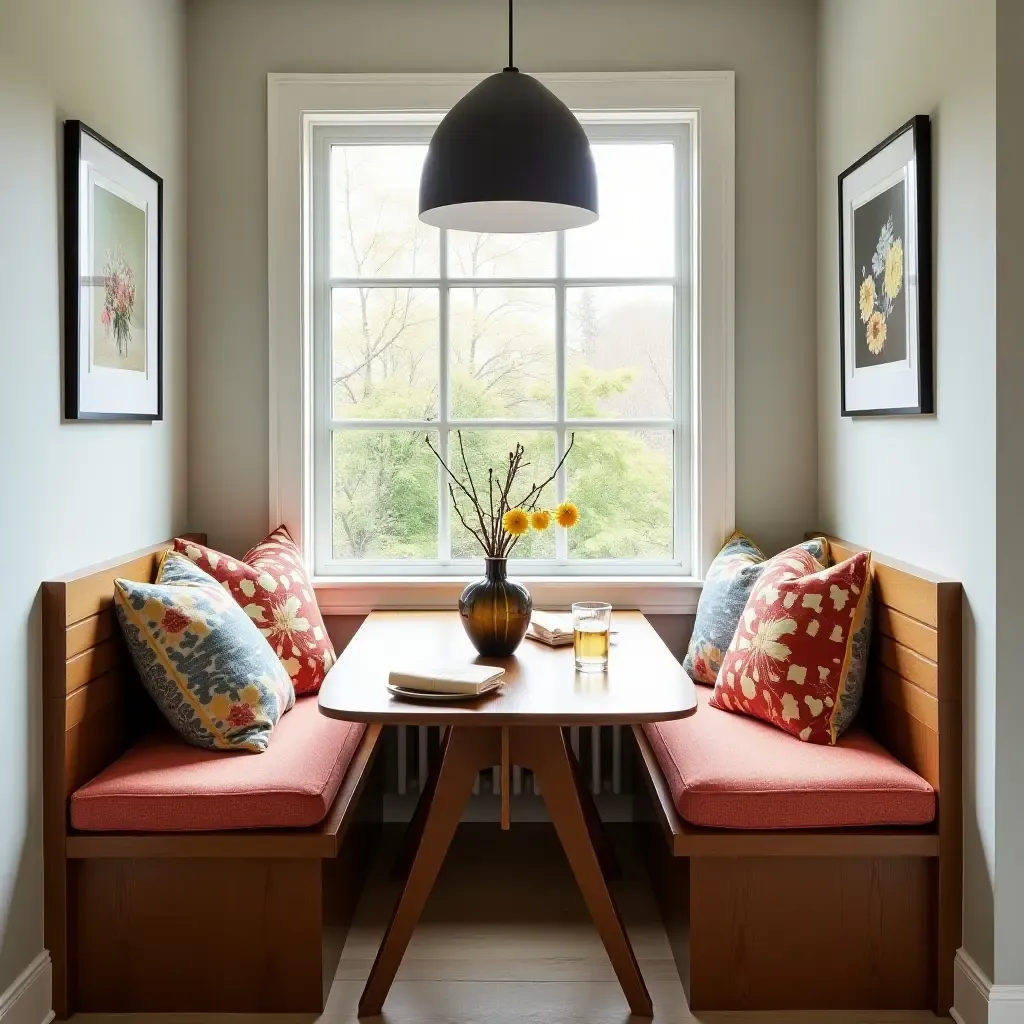
[[243,559],[178,538],[174,550],[223,586],[274,649],[297,694],[315,693],[335,663],[302,554],[284,526]]

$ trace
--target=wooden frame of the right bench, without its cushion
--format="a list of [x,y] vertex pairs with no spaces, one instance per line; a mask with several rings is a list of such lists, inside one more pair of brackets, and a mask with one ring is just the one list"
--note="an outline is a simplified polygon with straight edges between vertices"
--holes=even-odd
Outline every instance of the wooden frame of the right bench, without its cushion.
[[[836,560],[858,550],[831,540]],[[683,820],[634,730],[637,817],[691,1010],[952,1005],[961,941],[958,583],[873,558],[860,719],[934,787],[924,827],[732,830]],[[708,714],[719,714],[711,711]],[[722,713],[727,714],[727,713]],[[700,713],[691,720],[698,727]]]

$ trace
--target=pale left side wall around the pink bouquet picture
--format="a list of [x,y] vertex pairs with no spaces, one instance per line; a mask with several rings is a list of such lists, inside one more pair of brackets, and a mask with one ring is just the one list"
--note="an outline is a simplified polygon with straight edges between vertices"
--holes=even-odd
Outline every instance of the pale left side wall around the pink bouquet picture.
[[[43,947],[41,581],[185,514],[180,0],[0,0],[0,991]],[[61,423],[60,122],[165,180],[166,420]]]

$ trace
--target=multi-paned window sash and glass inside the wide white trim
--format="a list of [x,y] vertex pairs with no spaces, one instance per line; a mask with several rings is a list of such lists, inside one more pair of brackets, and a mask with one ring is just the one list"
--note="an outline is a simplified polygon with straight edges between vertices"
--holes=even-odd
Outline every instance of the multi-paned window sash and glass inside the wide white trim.
[[[517,570],[679,571],[689,529],[687,126],[591,129],[601,219],[472,234],[417,216],[422,127],[314,134],[315,556],[324,571],[478,558],[430,438],[478,487],[519,439],[584,510]],[[465,457],[465,459],[463,458]]]

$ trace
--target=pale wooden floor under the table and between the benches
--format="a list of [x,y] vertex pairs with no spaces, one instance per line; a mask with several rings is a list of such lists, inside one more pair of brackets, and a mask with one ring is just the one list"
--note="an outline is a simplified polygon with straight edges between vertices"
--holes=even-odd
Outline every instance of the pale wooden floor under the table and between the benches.
[[[615,898],[654,1000],[657,1024],[925,1024],[929,1013],[716,1013],[686,1006],[650,887],[628,837],[616,835],[625,878]],[[266,1015],[259,1024],[354,1024],[355,1006],[397,895],[389,836],[341,952],[327,1011]],[[202,927],[198,922],[197,927]],[[339,938],[340,941],[340,938]],[[233,956],[211,971],[230,970]],[[799,984],[800,970],[794,973]],[[79,1014],[76,1024],[238,1024],[248,1016]],[[388,1024],[625,1024],[630,1018],[568,865],[547,825],[460,827],[391,989]]]

